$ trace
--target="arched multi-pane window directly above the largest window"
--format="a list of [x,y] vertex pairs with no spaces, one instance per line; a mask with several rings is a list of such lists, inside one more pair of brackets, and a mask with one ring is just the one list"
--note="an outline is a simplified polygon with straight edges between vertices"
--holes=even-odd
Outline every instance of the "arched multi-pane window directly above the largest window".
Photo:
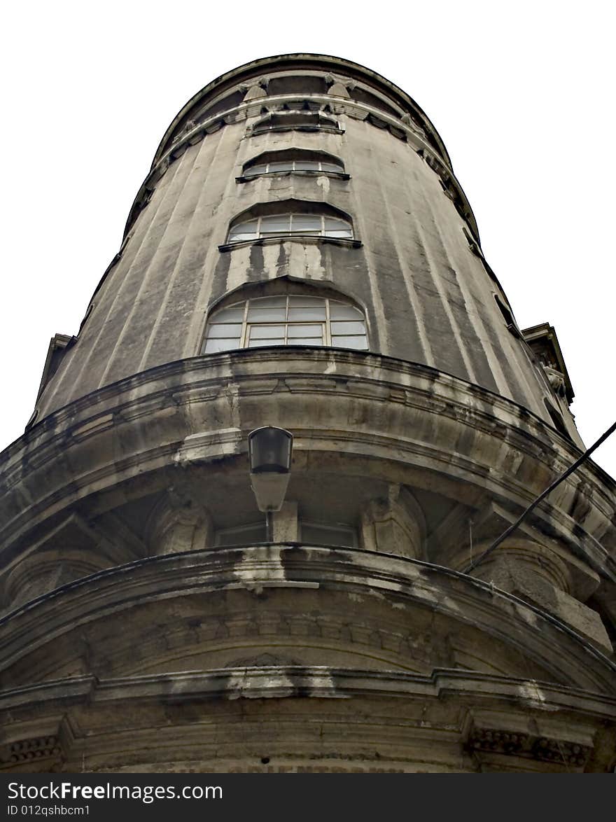
[[352,239],[353,231],[351,224],[339,217],[306,213],[270,214],[232,225],[228,242],[290,235]]

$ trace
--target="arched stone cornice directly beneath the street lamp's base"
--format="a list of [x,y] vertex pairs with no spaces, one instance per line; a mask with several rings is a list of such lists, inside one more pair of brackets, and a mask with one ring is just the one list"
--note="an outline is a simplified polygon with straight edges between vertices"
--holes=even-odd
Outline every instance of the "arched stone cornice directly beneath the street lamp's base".
[[[318,587],[412,603],[471,625],[568,686],[616,693],[616,664],[555,617],[481,580],[360,549],[274,543],[150,556],[63,585],[0,620],[0,669],[90,623],[145,603],[233,590]],[[369,607],[369,606],[367,606]],[[173,612],[173,607],[172,607]]]

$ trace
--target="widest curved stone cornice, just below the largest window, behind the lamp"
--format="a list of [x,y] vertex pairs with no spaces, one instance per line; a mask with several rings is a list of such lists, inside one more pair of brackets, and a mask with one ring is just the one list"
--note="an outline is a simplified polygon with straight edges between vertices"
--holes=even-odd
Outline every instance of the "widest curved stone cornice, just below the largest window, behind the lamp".
[[[305,418],[301,422],[298,416],[293,424],[299,450],[327,450],[329,442],[338,447],[335,443],[344,441],[348,454],[421,465],[521,508],[579,456],[575,446],[513,401],[416,363],[290,346],[206,355],[167,363],[94,391],[43,418],[0,455],[2,561],[11,561],[10,546],[16,547],[37,524],[93,493],[165,466],[207,464],[243,453],[247,432],[233,429],[232,441],[223,444],[219,429],[228,424],[206,423],[205,430],[195,430],[192,412],[169,413],[200,409],[200,418],[215,416],[230,386],[237,401],[251,407],[275,403],[276,392],[284,390],[297,398],[297,406],[290,408],[297,407],[298,413],[306,395],[318,390],[319,402],[329,403],[332,418],[328,430],[321,431],[306,427]],[[374,426],[345,428],[344,409],[358,402],[374,407],[375,413],[381,413],[384,403],[393,404],[401,427],[388,432]],[[137,437],[131,435],[135,425]],[[434,426],[447,436],[437,436]],[[143,436],[150,430],[158,432],[151,440]],[[452,437],[465,447],[452,450]],[[114,443],[119,441],[122,451],[116,453]],[[489,455],[485,462],[482,453]],[[499,465],[519,466],[525,460],[525,471],[518,477],[517,471],[499,470],[490,457],[494,454]],[[529,483],[531,475],[540,484]],[[590,507],[577,524],[569,510],[582,479]],[[558,533],[595,570],[616,575],[614,559],[601,544],[614,540],[614,481],[595,464],[586,464],[566,485],[567,492],[542,503],[536,517],[547,533]]]

